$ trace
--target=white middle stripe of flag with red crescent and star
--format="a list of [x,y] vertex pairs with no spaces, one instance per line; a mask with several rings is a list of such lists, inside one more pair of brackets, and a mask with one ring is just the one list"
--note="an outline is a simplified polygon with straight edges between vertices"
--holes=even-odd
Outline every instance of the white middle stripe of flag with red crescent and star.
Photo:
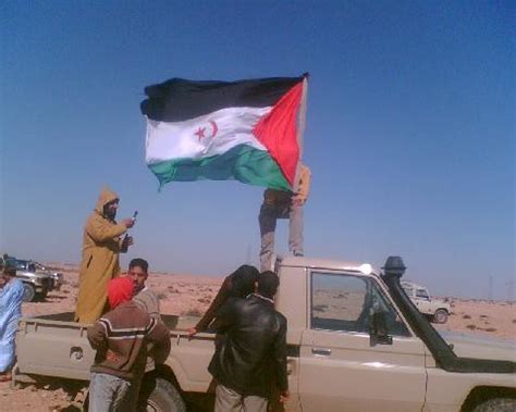
[[271,111],[267,108],[226,108],[184,122],[147,118],[147,164],[174,159],[201,159],[222,154],[238,145],[267,150],[253,128]]

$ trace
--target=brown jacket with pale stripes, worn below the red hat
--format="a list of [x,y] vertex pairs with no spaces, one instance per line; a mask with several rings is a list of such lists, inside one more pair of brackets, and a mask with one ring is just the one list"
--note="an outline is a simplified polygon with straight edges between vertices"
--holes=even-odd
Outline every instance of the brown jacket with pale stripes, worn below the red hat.
[[97,350],[91,372],[125,379],[139,379],[145,373],[147,344],[150,357],[163,363],[170,353],[170,332],[135,302],[118,305],[88,328],[88,340]]

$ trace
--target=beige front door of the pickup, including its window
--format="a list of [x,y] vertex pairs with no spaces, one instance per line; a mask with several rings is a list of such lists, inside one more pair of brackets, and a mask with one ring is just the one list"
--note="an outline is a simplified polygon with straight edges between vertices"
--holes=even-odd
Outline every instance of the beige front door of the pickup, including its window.
[[[299,358],[303,411],[420,411],[425,347],[377,279],[311,272],[308,283],[308,327]],[[371,342],[371,314],[378,310],[385,315],[391,344]]]

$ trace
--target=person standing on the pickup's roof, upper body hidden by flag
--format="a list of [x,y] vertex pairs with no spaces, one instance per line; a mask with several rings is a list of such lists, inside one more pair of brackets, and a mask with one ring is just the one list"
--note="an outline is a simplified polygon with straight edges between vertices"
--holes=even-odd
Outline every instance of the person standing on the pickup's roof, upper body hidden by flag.
[[297,191],[267,189],[260,208],[259,223],[261,235],[260,271],[272,270],[274,253],[274,232],[278,219],[288,219],[288,250],[295,255],[304,255],[303,248],[303,207],[310,190],[310,170],[299,165]]

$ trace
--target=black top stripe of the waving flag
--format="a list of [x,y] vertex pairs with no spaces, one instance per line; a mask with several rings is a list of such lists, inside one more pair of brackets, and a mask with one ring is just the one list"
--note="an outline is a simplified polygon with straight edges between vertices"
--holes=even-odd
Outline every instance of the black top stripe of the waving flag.
[[274,105],[299,77],[269,77],[238,82],[194,82],[172,78],[147,86],[148,99],[142,113],[162,122],[182,122],[224,108],[266,108]]

